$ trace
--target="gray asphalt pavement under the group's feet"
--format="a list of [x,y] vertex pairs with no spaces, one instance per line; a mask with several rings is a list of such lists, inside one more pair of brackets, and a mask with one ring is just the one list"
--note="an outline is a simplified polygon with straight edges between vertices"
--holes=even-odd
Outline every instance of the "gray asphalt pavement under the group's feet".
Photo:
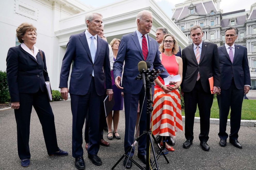
[[[75,160],[71,153],[72,114],[70,101],[53,102],[51,105],[55,116],[58,145],[61,149],[68,151],[69,155],[65,157],[49,157],[47,155],[42,127],[33,109],[29,142],[31,164],[27,168],[21,167],[17,153],[17,131],[14,110],[4,110],[0,111],[0,169],[76,169],[74,166]],[[122,156],[124,152],[124,122],[124,111],[121,111],[119,121],[121,140],[109,141],[110,147],[100,147],[98,156],[101,157],[103,162],[101,166],[93,165],[87,158],[87,152],[84,153],[86,169],[111,169]],[[176,150],[167,155],[170,164],[167,164],[164,158],[161,157],[158,160],[160,169],[256,169],[256,127],[241,126],[238,140],[243,145],[243,149],[235,148],[229,143],[226,147],[220,147],[218,129],[218,124],[211,124],[210,138],[207,142],[211,147],[209,152],[203,151],[199,146],[199,123],[194,124],[195,139],[189,149],[183,149],[182,144],[185,141],[184,132],[178,132],[174,146]],[[227,131],[230,131],[230,126],[227,126]],[[106,136],[107,133],[104,132],[104,138],[107,140]],[[133,158],[141,163],[136,155],[137,152],[135,151]],[[123,163],[121,162],[115,169],[124,169]],[[138,168],[133,165],[132,169]]]

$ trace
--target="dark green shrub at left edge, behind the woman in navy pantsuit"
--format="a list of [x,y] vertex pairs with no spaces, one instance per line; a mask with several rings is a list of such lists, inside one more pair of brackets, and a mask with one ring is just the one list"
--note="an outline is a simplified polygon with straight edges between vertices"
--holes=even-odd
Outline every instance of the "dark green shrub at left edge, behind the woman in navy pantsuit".
[[6,72],[0,70],[0,103],[10,102],[10,100]]

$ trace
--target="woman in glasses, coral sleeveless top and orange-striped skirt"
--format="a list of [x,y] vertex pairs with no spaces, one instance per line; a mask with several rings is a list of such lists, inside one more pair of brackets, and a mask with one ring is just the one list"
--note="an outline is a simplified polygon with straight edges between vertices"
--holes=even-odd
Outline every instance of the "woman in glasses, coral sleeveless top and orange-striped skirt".
[[[170,75],[180,75],[182,80],[182,59],[175,56],[179,51],[178,43],[173,35],[166,34],[163,42],[159,45],[160,59],[163,66]],[[158,77],[154,92],[154,110],[151,122],[151,130],[154,135],[175,138],[175,131],[182,131],[181,105],[179,86],[181,81],[175,85],[164,85],[164,80]],[[174,149],[166,142],[165,148],[169,151]],[[163,145],[163,144],[162,144]]]

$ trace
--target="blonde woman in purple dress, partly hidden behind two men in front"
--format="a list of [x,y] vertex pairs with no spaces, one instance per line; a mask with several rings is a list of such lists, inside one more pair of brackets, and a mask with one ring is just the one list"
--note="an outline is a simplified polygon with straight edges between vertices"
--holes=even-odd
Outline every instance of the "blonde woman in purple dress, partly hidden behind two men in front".
[[[110,46],[112,47],[113,54],[114,54],[114,62],[116,60],[119,44],[120,44],[120,40],[116,39],[116,38],[114,38],[110,42]],[[113,88],[113,92],[114,92],[115,105],[112,109],[113,115],[112,115],[112,111],[111,111],[111,113],[109,113],[109,115],[107,117],[108,139],[109,140],[112,140],[113,138],[121,139],[121,137],[119,136],[119,134],[117,132],[117,126],[118,126],[118,122],[119,122],[119,111],[123,110],[123,105],[124,105],[124,99],[121,95],[121,89],[117,88],[115,85],[113,70],[111,71],[111,76],[112,76],[112,88]],[[113,126],[114,126],[113,133],[112,133],[112,120],[113,120]]]

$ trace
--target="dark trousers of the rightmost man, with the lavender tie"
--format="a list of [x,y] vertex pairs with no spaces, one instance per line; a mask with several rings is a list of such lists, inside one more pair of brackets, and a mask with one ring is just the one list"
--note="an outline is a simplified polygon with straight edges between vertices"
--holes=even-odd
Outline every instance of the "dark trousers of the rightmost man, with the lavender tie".
[[237,140],[241,123],[243,97],[244,90],[236,88],[234,79],[232,79],[230,88],[221,90],[220,95],[217,96],[220,109],[220,132],[218,134],[220,139],[226,140],[228,138],[226,127],[229,109],[231,109],[229,139]]

